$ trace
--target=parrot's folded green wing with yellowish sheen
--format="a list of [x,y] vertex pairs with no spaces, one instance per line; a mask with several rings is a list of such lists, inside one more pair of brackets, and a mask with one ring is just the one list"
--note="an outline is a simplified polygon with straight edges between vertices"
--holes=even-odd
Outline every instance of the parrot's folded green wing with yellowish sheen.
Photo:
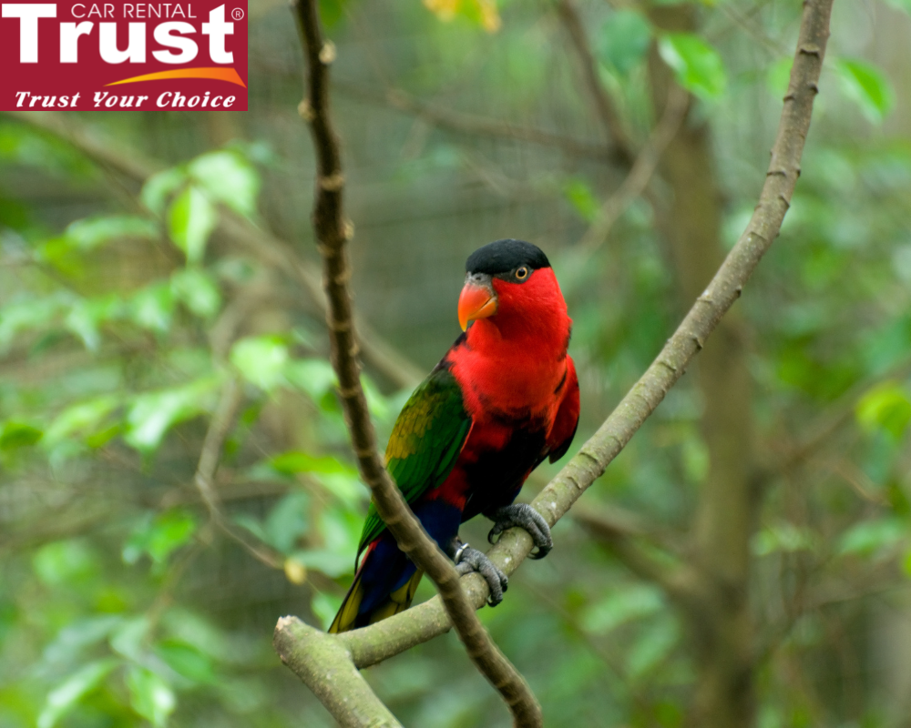
[[[453,469],[470,429],[471,418],[465,410],[462,390],[455,377],[448,369],[435,369],[405,403],[386,446],[386,470],[405,501],[414,503],[427,490],[443,483]],[[371,502],[363,524],[358,558],[385,528]]]

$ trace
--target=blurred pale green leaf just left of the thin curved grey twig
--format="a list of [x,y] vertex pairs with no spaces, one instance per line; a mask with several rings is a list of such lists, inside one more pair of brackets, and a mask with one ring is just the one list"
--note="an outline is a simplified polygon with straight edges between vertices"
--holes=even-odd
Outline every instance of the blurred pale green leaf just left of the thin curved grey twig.
[[219,379],[197,379],[183,387],[140,394],[127,414],[127,444],[137,450],[151,451],[173,425],[189,420],[215,405]]

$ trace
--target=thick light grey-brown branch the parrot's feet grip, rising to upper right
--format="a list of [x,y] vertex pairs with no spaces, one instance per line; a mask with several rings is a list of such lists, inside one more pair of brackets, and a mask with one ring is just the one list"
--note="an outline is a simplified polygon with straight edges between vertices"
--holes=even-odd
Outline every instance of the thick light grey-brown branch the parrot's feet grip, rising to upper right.
[[[696,300],[680,327],[668,339],[658,358],[630,389],[599,430],[568,462],[532,505],[550,525],[562,518],[581,494],[617,457],[620,450],[658,407],[705,339],[722,316],[740,297],[742,287],[760,259],[771,247],[790,206],[794,185],[800,171],[800,159],[810,128],[814,97],[823,66],[825,44],[829,36],[832,0],[807,0],[791,82],[778,133],[772,148],[772,161],[763,184],[759,204],[741,238],[725,258],[709,287]],[[516,571],[532,549],[531,538],[524,531],[507,531],[488,556],[507,574]],[[472,574],[463,580],[469,599],[479,609],[487,599],[486,583]],[[302,622],[293,622],[302,632],[316,632]],[[337,636],[351,654],[354,664],[366,667],[393,657],[400,652],[427,642],[451,628],[437,599],[418,605],[407,612]],[[309,631],[309,632],[308,632]],[[326,636],[326,639],[333,639]],[[302,649],[291,644],[292,654]]]

